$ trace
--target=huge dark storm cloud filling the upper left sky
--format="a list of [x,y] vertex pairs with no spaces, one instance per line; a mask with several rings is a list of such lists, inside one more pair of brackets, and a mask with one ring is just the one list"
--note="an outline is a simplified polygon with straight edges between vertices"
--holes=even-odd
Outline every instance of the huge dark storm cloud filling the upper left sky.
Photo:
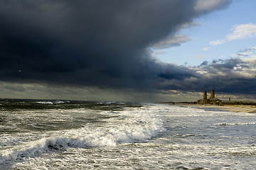
[[[199,1],[200,2],[200,1]],[[148,47],[230,1],[0,1],[0,80],[155,88],[200,78]],[[197,6],[197,8],[194,8]],[[182,40],[181,40],[182,42]]]

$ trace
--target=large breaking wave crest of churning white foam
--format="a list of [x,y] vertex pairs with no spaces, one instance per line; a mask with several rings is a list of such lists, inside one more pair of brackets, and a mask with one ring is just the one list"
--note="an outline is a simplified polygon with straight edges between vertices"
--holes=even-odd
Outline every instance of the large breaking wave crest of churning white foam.
[[38,157],[46,152],[63,151],[70,147],[115,147],[119,143],[144,142],[163,131],[163,122],[156,118],[156,108],[133,111],[102,112],[102,115],[117,115],[107,120],[104,126],[93,125],[80,129],[55,132],[55,136],[23,142],[11,149],[2,150],[0,163],[15,161],[23,157]]

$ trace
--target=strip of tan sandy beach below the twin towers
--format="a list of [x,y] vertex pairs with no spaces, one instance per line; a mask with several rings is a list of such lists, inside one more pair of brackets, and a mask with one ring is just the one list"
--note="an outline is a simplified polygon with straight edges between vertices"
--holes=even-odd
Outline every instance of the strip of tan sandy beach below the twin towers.
[[223,111],[232,111],[232,112],[241,112],[241,113],[256,113],[256,106],[250,105],[226,105],[226,106],[218,106],[218,105],[199,105],[199,104],[187,104],[182,103],[178,104],[180,106],[187,107],[196,107],[196,108],[218,108]]

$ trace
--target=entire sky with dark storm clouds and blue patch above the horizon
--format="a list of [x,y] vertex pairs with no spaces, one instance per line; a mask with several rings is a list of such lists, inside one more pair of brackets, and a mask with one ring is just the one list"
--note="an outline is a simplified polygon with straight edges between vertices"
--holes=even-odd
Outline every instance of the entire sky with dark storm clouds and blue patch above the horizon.
[[255,100],[255,4],[0,1],[0,98]]

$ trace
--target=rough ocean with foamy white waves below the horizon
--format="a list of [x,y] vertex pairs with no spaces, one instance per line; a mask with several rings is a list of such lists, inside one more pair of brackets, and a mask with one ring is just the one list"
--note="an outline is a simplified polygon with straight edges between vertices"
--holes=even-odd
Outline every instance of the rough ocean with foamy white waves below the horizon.
[[256,114],[167,104],[0,101],[0,169],[255,169]]

